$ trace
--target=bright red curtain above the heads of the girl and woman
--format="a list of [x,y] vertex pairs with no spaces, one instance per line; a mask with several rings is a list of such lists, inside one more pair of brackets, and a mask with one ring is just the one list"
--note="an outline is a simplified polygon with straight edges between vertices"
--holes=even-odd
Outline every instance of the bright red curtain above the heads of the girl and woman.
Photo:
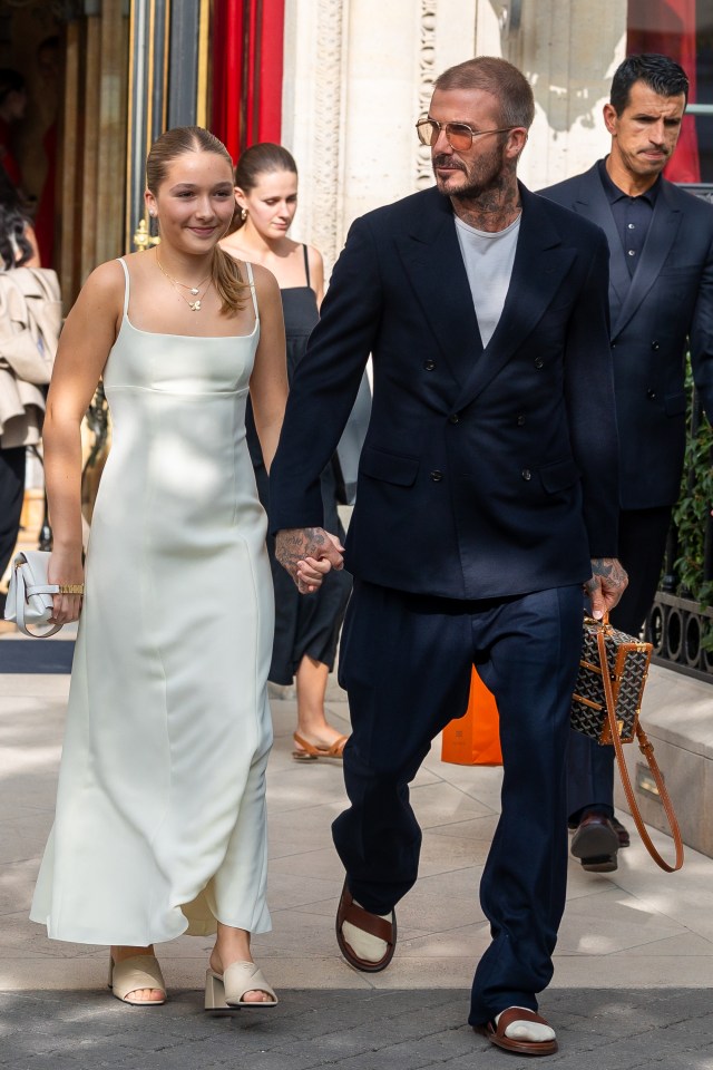
[[234,160],[282,134],[284,0],[216,0],[211,129]]

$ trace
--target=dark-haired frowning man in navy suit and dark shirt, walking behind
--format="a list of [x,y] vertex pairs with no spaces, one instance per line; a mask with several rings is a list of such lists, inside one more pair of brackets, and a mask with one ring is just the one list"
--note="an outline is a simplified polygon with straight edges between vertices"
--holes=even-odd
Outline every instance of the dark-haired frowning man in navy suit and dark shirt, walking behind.
[[[619,434],[619,556],[629,583],[612,623],[638,635],[658,585],[683,468],[686,343],[713,414],[713,206],[662,176],[688,93],[666,56],[629,56],[612,82],[604,121],[612,149],[583,175],[545,189],[604,231]],[[572,733],[572,853],[585,869],[617,867],[628,833],[614,817],[614,748]]]

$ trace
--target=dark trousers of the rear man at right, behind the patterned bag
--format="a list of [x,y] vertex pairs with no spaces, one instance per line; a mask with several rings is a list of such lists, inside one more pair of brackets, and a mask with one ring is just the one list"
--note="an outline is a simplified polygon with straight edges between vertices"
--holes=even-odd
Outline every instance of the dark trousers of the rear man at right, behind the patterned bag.
[[[670,525],[671,506],[619,513],[619,561],[628,573],[628,586],[609,620],[629,635],[638,635],[654,601]],[[614,747],[600,747],[574,730],[570,736],[567,758],[570,820],[578,820],[588,807],[614,817]]]

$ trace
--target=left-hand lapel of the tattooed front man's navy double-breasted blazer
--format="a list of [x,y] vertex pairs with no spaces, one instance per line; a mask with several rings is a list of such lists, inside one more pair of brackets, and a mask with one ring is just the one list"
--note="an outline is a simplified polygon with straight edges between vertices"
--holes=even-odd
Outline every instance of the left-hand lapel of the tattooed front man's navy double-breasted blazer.
[[433,189],[432,211],[399,239],[399,253],[442,359],[462,387],[482,341],[448,197]]

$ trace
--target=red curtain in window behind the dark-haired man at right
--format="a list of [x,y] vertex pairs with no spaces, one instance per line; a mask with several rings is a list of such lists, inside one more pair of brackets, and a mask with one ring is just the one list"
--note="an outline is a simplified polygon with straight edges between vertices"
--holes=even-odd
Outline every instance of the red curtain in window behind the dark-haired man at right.
[[[681,64],[696,98],[695,0],[629,0],[626,54],[660,52]],[[686,115],[678,145],[664,171],[671,182],[701,182],[695,118]]]

